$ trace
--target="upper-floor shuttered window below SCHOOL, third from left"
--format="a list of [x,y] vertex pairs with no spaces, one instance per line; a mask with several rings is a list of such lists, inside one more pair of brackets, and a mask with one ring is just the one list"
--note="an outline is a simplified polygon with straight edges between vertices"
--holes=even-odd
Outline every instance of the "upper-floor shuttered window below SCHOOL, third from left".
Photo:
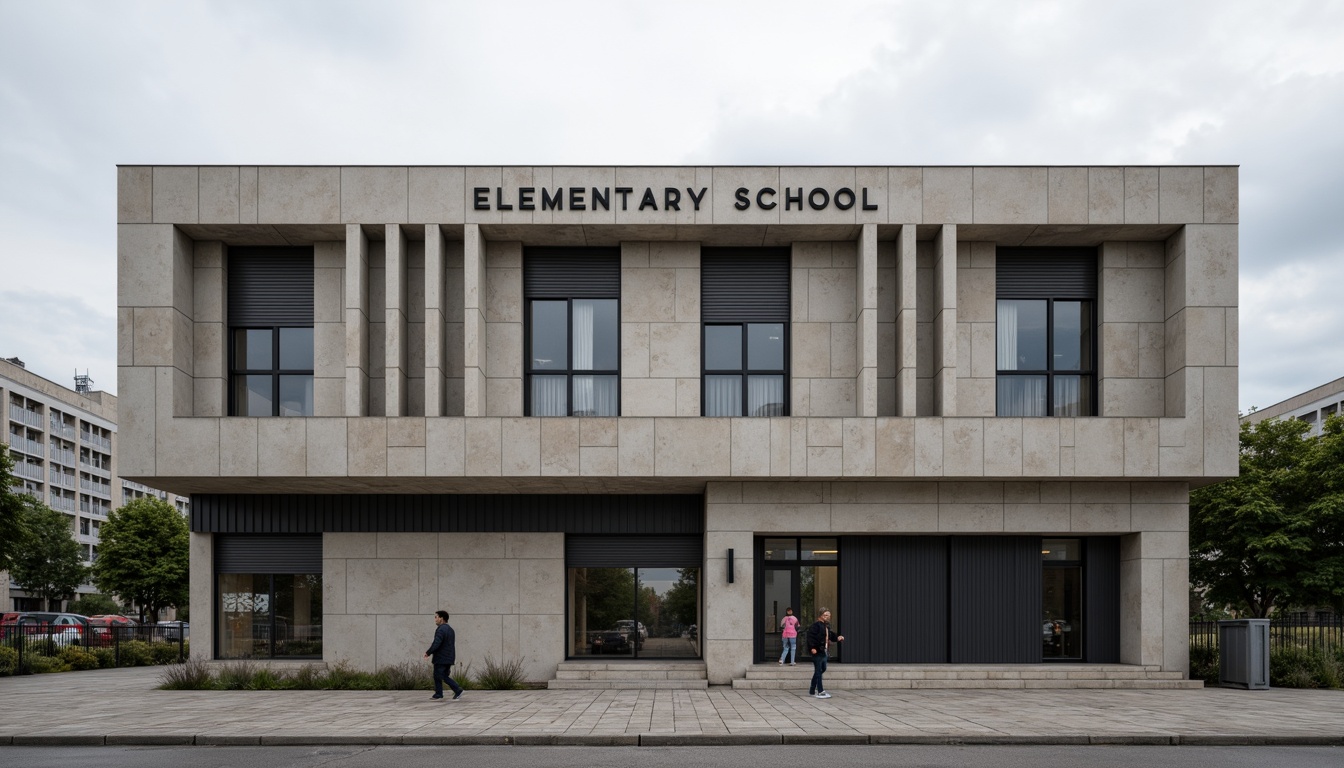
[[789,252],[700,256],[704,416],[789,414]]

